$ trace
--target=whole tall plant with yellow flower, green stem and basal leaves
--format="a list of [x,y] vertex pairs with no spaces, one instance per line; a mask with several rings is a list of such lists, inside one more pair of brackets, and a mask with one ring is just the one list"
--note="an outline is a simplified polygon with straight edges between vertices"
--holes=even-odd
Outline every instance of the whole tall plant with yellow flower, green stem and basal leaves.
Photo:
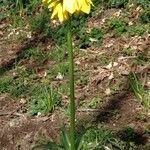
[[[81,12],[89,14],[92,0],[43,0],[43,4],[52,12],[51,19],[59,19],[61,23],[67,22],[67,47],[69,54],[69,79],[70,79],[70,136],[62,131],[62,145],[54,145],[50,143],[50,149],[80,150],[81,141],[75,137],[75,92],[74,92],[74,61],[73,61],[73,45],[71,32],[71,16],[79,15]],[[56,148],[57,147],[57,148]]]

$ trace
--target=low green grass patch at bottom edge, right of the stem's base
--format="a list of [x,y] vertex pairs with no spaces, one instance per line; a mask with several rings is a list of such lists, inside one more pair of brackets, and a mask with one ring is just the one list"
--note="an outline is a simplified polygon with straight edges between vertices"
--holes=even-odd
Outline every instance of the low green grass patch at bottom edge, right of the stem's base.
[[83,138],[83,150],[136,150],[137,147],[132,143],[124,142],[116,138],[114,133],[109,129],[87,130]]

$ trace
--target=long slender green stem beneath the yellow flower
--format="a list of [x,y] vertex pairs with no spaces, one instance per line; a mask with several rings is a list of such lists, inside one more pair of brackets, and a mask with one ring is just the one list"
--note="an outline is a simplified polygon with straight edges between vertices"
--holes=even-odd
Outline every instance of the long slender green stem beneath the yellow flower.
[[75,150],[75,96],[74,96],[74,61],[73,61],[73,46],[72,33],[70,22],[68,22],[67,44],[69,53],[69,79],[70,79],[70,138],[71,150]]

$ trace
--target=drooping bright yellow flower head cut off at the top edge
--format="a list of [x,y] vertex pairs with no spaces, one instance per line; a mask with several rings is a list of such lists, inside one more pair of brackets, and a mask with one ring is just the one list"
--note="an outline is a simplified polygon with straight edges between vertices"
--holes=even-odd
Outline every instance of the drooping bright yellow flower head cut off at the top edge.
[[52,11],[51,19],[58,18],[63,22],[70,15],[77,12],[89,14],[92,0],[42,0],[45,5]]

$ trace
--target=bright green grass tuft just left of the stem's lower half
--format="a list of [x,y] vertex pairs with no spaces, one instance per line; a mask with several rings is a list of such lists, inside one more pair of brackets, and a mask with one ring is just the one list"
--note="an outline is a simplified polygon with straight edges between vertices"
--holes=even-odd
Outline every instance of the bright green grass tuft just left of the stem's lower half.
[[32,90],[30,111],[32,115],[47,114],[60,104],[60,95],[51,86],[37,85]]

